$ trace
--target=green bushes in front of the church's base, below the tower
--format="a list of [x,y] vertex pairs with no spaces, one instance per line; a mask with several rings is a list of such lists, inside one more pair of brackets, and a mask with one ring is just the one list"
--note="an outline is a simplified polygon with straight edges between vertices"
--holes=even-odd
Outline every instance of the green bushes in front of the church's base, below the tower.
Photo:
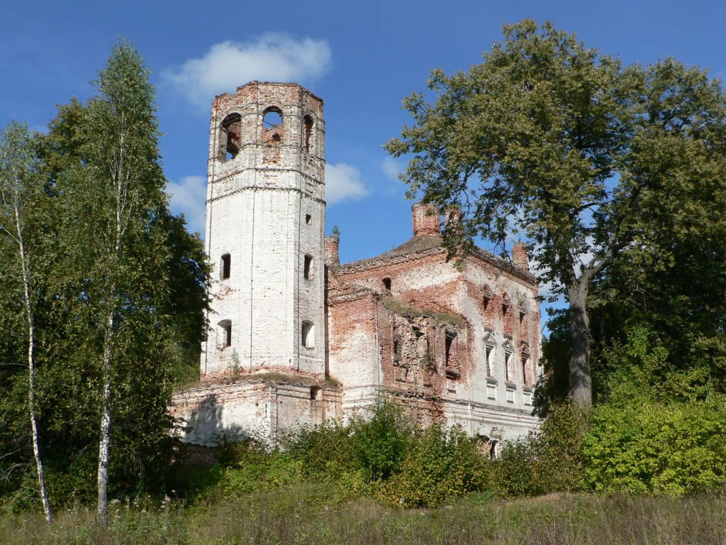
[[274,448],[258,440],[224,444],[220,464],[228,497],[317,482],[340,498],[429,506],[489,486],[489,460],[464,432],[420,429],[401,407],[383,402],[345,426],[302,429]]

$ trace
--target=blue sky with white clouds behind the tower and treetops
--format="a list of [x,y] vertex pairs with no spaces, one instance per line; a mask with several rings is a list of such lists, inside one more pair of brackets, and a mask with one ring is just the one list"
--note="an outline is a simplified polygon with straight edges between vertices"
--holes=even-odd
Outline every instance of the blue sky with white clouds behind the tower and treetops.
[[44,130],[54,105],[91,94],[118,36],[134,43],[158,91],[172,209],[203,230],[214,94],[252,79],[297,81],[325,100],[327,231],[343,262],[411,235],[401,159],[382,145],[408,123],[401,100],[432,68],[468,70],[502,23],[551,20],[629,64],[673,55],[726,75],[726,3],[685,1],[238,0],[5,1],[0,7],[0,126]]

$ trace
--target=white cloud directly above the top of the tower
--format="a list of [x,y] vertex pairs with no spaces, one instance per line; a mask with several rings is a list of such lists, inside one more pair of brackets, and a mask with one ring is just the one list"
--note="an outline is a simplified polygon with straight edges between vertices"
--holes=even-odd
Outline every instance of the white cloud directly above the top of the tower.
[[161,76],[189,102],[207,108],[215,95],[234,92],[248,81],[313,81],[329,68],[330,57],[325,40],[267,33],[244,44],[215,44],[204,57],[167,68]]

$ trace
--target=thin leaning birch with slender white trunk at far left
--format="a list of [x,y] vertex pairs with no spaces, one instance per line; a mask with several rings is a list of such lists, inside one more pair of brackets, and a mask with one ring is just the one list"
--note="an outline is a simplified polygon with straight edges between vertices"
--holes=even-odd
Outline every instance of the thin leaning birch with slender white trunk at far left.
[[[20,327],[25,334],[30,443],[38,476],[38,493],[46,521],[50,523],[52,513],[41,456],[35,384],[36,299],[40,291],[39,277],[44,259],[43,229],[38,223],[39,215],[46,210],[46,206],[43,206],[45,200],[43,179],[38,173],[38,160],[28,127],[17,123],[10,124],[0,134],[0,236],[4,238],[4,243],[0,246],[4,246],[2,249],[6,250],[12,248],[10,255],[5,256],[9,259],[4,263],[2,276],[10,277],[7,294],[19,296],[22,307],[23,318],[13,320],[13,325]],[[10,309],[6,307],[5,310],[7,312]]]

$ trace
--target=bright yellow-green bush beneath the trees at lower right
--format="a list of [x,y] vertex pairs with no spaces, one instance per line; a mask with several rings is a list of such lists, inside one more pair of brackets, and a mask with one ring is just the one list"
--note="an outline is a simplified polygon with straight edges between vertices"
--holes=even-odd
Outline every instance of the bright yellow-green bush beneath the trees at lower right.
[[584,440],[584,484],[595,491],[682,495],[726,483],[726,398],[600,405]]

